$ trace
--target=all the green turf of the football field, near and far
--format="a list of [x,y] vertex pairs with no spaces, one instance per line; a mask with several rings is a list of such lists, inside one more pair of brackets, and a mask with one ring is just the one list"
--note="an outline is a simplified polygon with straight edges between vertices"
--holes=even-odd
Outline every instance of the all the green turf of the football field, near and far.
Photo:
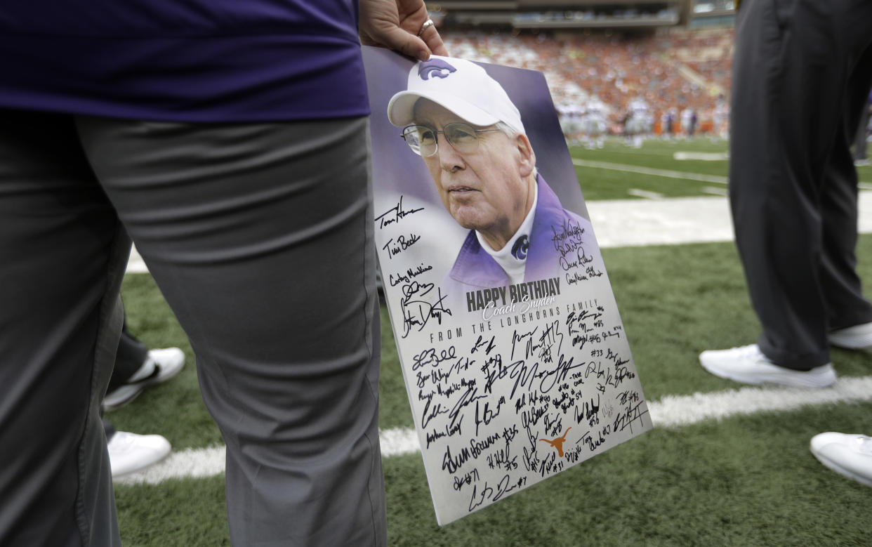
[[[705,162],[722,169],[712,172],[671,159],[678,149],[726,150],[723,143],[697,141],[647,143],[637,154],[644,163],[630,161],[636,156],[619,140],[602,152],[574,154],[726,175],[726,161]],[[626,188],[704,195],[698,188],[711,186],[617,171],[609,171],[616,178],[607,181],[591,171],[580,171],[589,176],[589,186],[582,176],[589,200],[622,199]],[[872,180],[872,168],[862,168],[861,178]],[[857,254],[869,287],[872,235],[861,236]],[[649,400],[739,387],[705,373],[697,361],[702,350],[747,344],[759,332],[732,243],[605,249],[603,258]],[[152,347],[182,347],[190,363],[177,379],[107,417],[122,430],[163,434],[176,450],[220,444],[201,401],[187,338],[152,278],[130,274],[122,291],[131,330]],[[382,348],[381,427],[412,427],[384,308]],[[870,352],[835,350],[833,360],[840,376],[872,373]],[[420,456],[387,457],[389,544],[870,545],[872,489],[829,471],[808,451],[811,436],[828,430],[872,433],[872,403],[655,428],[442,528]],[[126,545],[228,544],[222,475],[117,485],[116,496]]]

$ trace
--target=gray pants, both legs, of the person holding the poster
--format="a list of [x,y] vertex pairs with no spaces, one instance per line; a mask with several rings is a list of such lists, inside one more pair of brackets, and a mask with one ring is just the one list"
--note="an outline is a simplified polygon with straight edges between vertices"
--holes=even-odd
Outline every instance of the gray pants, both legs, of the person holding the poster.
[[227,443],[233,543],[385,543],[367,138],[0,111],[0,544],[119,544],[99,403],[127,234]]

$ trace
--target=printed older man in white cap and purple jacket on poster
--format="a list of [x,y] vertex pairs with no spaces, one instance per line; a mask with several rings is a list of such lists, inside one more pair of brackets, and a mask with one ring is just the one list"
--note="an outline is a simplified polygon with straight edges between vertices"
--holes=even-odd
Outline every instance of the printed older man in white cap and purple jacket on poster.
[[594,256],[602,269],[590,223],[563,209],[538,173],[521,114],[480,65],[437,56],[419,62],[387,111],[447,211],[469,229],[444,291],[562,277],[584,271],[579,261]]

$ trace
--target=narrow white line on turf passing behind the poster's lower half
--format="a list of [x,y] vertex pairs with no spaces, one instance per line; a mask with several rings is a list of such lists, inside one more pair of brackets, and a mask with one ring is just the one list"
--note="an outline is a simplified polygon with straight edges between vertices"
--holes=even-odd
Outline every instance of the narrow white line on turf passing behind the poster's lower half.
[[[690,426],[705,420],[723,420],[732,416],[762,412],[786,412],[801,407],[832,405],[872,400],[872,376],[842,378],[826,389],[787,387],[742,387],[715,393],[667,395],[648,402],[655,427]],[[416,454],[418,435],[412,428],[386,429],[381,432],[383,457]],[[155,484],[173,478],[206,477],[224,472],[224,447],[187,448],[169,455],[166,460],[142,473],[115,479],[116,483],[147,482]]]

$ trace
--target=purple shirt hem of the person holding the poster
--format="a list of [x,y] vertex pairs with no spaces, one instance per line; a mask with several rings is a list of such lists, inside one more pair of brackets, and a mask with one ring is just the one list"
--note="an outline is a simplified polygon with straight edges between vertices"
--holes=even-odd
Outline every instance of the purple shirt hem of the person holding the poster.
[[358,0],[2,0],[0,106],[167,121],[369,113]]

